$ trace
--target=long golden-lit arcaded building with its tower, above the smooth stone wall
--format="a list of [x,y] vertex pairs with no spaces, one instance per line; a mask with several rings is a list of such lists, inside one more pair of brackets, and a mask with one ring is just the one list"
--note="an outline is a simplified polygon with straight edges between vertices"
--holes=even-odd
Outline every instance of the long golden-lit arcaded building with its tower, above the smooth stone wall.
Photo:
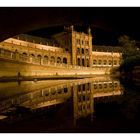
[[4,40],[0,43],[0,58],[65,68],[99,68],[109,71],[119,67],[122,59],[120,52],[107,51],[108,49],[98,51],[93,48],[90,29],[83,33],[70,26],[53,35],[51,40],[27,34]]

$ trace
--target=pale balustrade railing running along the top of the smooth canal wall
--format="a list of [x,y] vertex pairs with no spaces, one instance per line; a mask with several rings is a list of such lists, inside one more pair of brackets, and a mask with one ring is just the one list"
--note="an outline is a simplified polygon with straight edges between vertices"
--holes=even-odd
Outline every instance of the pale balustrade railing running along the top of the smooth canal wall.
[[[93,65],[92,67],[84,67],[84,66],[77,66],[77,65],[69,65],[65,63],[51,63],[49,60],[45,60],[43,58],[37,58],[36,56],[28,56],[24,54],[20,54],[18,52],[12,52],[9,50],[0,49],[0,58],[14,60],[18,62],[30,63],[35,65],[42,65],[42,66],[50,66],[50,67],[58,67],[58,68],[68,68],[68,69],[83,69],[83,70],[93,70],[94,68],[104,68],[104,67],[112,67],[112,65]],[[119,66],[119,65],[113,65]]]

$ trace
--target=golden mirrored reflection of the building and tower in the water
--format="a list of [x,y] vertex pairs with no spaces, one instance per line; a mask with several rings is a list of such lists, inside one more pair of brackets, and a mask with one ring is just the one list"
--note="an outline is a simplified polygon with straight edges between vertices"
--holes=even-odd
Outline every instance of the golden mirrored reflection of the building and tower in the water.
[[[52,84],[51,84],[52,82]],[[50,86],[48,86],[48,83]],[[73,124],[80,118],[89,117],[93,120],[94,100],[123,94],[118,80],[109,77],[68,80],[54,84],[53,81],[22,82],[0,84],[0,115],[9,115],[19,107],[36,111],[48,109],[57,104],[70,102]],[[48,107],[48,108],[46,108]]]

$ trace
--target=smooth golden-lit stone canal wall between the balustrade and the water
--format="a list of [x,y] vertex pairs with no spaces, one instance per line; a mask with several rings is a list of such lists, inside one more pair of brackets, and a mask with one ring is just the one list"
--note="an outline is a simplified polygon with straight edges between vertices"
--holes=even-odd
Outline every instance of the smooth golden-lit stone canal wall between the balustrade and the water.
[[72,65],[65,66],[43,66],[28,64],[9,59],[0,58],[0,77],[17,76],[48,76],[48,75],[90,75],[90,74],[109,74],[107,68],[87,68]]

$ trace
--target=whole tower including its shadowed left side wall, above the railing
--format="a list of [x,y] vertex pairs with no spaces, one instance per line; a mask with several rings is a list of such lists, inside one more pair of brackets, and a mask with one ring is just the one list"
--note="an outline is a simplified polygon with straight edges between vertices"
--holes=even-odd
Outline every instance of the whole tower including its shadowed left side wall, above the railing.
[[71,54],[71,64],[83,67],[92,66],[92,35],[77,32],[74,26],[65,27],[64,32],[54,36],[61,46]]

